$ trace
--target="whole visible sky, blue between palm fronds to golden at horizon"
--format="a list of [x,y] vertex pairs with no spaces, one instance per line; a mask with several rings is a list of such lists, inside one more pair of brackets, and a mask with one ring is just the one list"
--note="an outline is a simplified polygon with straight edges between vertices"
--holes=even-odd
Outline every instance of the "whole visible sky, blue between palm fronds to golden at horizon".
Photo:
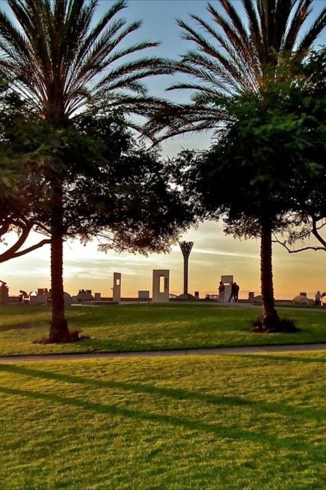
[[[99,3],[97,15],[100,17],[111,5],[111,0]],[[212,0],[212,3],[215,3]],[[237,4],[235,0],[235,4]],[[6,1],[0,6],[7,10]],[[316,13],[326,6],[326,0],[316,1]],[[160,46],[151,54],[162,57],[177,57],[191,45],[180,39],[180,30],[175,19],[188,19],[189,14],[198,14],[208,19],[205,0],[129,0],[123,12],[128,21],[142,19],[142,28],[129,37],[128,43],[160,41]],[[325,44],[326,32],[317,44]],[[152,94],[166,96],[165,89],[175,82],[175,76],[157,76],[148,79]],[[169,92],[170,99],[186,101],[188,94]],[[174,156],[182,150],[202,150],[209,146],[210,135],[188,134],[175,137],[162,145],[163,156]],[[31,236],[30,242],[36,236]],[[12,239],[12,238],[10,238]],[[193,251],[189,260],[189,292],[199,291],[200,296],[217,292],[221,275],[231,274],[240,285],[240,298],[248,298],[248,292],[260,294],[259,241],[235,240],[225,236],[221,223],[205,222],[197,229],[189,229],[181,237],[193,241]],[[0,245],[0,250],[3,245]],[[170,254],[151,254],[148,257],[132,254],[98,252],[96,241],[86,246],[77,241],[65,244],[64,248],[65,291],[76,294],[78,289],[92,289],[102,296],[111,296],[113,272],[122,273],[122,296],[138,296],[139,289],[151,292],[152,270],[170,269],[170,292],[181,294],[183,290],[183,260],[178,245]],[[326,290],[325,252],[301,252],[288,254],[280,245],[274,245],[274,292],[276,298],[293,298],[299,292],[307,292],[312,297],[317,289]],[[19,289],[31,290],[50,288],[50,250],[48,246],[28,255],[2,263],[0,279],[8,283],[10,294],[18,294]]]

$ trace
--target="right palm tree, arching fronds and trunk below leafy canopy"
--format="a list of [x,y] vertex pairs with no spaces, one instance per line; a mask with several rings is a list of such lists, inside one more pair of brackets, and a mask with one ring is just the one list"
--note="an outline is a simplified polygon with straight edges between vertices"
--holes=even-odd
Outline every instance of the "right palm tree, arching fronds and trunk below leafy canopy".
[[[182,37],[195,45],[169,68],[189,80],[169,90],[191,90],[191,103],[171,106],[157,114],[149,132],[175,134],[213,130],[219,134],[230,119],[227,98],[261,92],[285,74],[284,59],[302,61],[326,25],[326,8],[316,16],[314,0],[216,0],[208,3],[211,22],[192,15],[193,23],[178,20]],[[309,25],[309,28],[307,26]],[[261,286],[263,319],[276,318],[272,280],[272,229],[261,223]]]

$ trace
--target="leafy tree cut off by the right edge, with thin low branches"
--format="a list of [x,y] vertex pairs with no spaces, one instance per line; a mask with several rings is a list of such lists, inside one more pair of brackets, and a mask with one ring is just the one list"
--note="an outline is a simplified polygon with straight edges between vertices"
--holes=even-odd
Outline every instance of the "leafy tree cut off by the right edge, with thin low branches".
[[[309,131],[309,148],[306,158],[311,161],[313,172],[300,186],[292,190],[294,207],[290,222],[292,226],[283,233],[283,237],[275,236],[288,252],[296,253],[303,250],[323,250],[326,252],[326,48],[309,55],[303,67],[304,78],[300,90],[295,85],[292,90],[292,111],[305,115]],[[294,98],[296,92],[296,98]],[[286,236],[286,239],[284,237]],[[312,244],[305,245],[307,238],[313,237]],[[301,246],[296,243],[300,241]]]

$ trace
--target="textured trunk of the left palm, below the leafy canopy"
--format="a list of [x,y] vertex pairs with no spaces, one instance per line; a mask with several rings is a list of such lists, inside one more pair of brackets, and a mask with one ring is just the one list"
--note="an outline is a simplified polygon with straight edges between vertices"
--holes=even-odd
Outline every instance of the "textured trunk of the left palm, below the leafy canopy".
[[61,182],[52,186],[51,209],[51,296],[52,320],[50,342],[63,343],[69,340],[63,298],[63,187]]

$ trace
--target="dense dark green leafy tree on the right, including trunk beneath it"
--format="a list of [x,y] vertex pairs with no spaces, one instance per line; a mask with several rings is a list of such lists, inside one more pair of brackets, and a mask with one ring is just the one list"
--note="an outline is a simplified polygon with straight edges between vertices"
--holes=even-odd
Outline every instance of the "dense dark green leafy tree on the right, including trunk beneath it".
[[268,93],[226,101],[232,121],[219,141],[207,152],[181,154],[174,163],[176,182],[197,219],[224,216],[226,233],[261,239],[266,329],[279,325],[276,312],[266,308],[274,305],[272,232],[290,226],[298,190],[318,177],[309,159],[309,115],[292,112],[300,89],[293,90],[295,96],[287,83],[273,83]]

